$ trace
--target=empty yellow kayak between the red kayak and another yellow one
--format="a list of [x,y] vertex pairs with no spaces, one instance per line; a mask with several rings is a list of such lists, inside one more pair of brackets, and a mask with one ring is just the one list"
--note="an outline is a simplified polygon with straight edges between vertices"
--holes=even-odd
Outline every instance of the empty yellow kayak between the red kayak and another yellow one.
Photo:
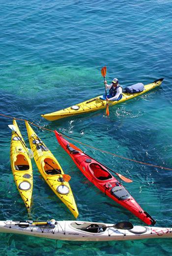
[[42,177],[58,198],[68,207],[75,218],[77,218],[78,209],[75,199],[69,183],[63,179],[64,172],[59,162],[43,141],[36,135],[34,130],[29,126],[29,123],[27,121],[25,123],[28,131],[30,147],[33,151],[33,157]]

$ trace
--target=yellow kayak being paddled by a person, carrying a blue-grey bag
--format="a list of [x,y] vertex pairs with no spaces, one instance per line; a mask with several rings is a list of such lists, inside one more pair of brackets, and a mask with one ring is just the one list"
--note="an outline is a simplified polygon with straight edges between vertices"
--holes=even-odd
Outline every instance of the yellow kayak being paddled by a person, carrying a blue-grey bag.
[[[122,98],[120,100],[109,101],[108,105],[113,106],[113,105],[122,103],[126,100],[135,98],[142,94],[145,94],[148,91],[154,89],[155,87],[160,86],[162,81],[163,81],[163,78],[160,78],[151,84],[144,85],[144,90],[143,90],[143,92],[140,92],[140,93],[135,93],[135,94],[122,93]],[[49,121],[55,121],[57,119],[61,119],[61,118],[65,118],[65,117],[81,115],[81,114],[90,113],[90,112],[100,110],[100,109],[106,108],[106,104],[107,104],[106,100],[100,99],[100,96],[97,96],[97,97],[91,98],[89,100],[86,100],[84,102],[81,102],[79,104],[76,104],[74,106],[64,108],[64,109],[61,109],[61,110],[58,110],[56,112],[52,112],[49,114],[44,114],[41,116]]]

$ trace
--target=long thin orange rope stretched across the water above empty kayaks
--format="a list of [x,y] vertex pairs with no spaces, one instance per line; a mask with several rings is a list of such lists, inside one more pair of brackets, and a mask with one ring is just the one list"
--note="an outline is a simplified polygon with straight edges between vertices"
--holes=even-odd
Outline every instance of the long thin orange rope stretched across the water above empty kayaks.
[[[0,114],[0,116],[6,117],[6,118],[10,118],[10,119],[14,119],[14,118],[15,118],[15,117],[8,116],[8,115],[4,115],[4,114]],[[36,124],[34,124],[34,123],[32,123],[32,122],[26,120],[26,119],[22,119],[22,118],[15,118],[15,119],[16,119],[16,120],[19,120],[19,121],[23,121],[23,122],[27,121],[29,124],[31,124],[31,125],[33,125],[33,126],[35,126],[35,127],[38,127],[38,128],[40,128],[40,129],[44,129],[44,130],[47,130],[47,131],[50,131],[50,132],[55,132],[54,130],[51,130],[51,129],[48,129],[48,128],[45,128],[45,127],[36,125]],[[100,152],[102,152],[102,153],[105,153],[105,154],[108,154],[108,155],[112,155],[112,156],[114,156],[114,157],[121,158],[121,159],[124,159],[124,160],[133,161],[133,162],[136,162],[136,163],[140,163],[140,164],[144,164],[144,165],[148,165],[148,166],[152,166],[152,167],[156,167],[156,168],[160,168],[160,169],[172,171],[172,168],[168,168],[168,167],[164,167],[164,166],[159,166],[159,165],[155,165],[155,164],[151,164],[151,163],[146,163],[146,162],[142,162],[142,161],[138,161],[138,160],[134,160],[134,159],[129,159],[129,158],[126,158],[126,157],[123,157],[123,156],[119,156],[119,155],[116,155],[116,154],[114,154],[114,153],[112,153],[112,152],[109,152],[109,151],[106,151],[106,150],[102,150],[102,149],[98,149],[98,148],[93,147],[93,146],[90,146],[90,145],[88,145],[88,144],[86,144],[86,143],[80,142],[80,141],[78,141],[78,140],[76,140],[76,139],[73,139],[73,138],[71,138],[71,137],[65,135],[65,134],[62,133],[62,132],[59,132],[59,133],[61,133],[61,134],[63,135],[63,137],[66,137],[66,138],[68,138],[68,139],[70,139],[70,140],[72,140],[72,141],[75,141],[75,142],[77,142],[77,143],[79,143],[79,144],[81,144],[81,145],[83,145],[83,146],[88,147],[88,148],[91,148],[91,149],[94,149],[94,150],[98,150],[98,151],[100,151]]]

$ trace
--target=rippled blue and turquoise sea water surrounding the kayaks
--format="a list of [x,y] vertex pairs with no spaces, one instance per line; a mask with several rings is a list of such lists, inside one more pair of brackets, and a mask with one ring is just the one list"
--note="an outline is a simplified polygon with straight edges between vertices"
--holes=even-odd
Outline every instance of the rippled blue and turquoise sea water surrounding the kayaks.
[[[170,0],[1,0],[0,113],[25,118],[91,146],[172,168],[172,2]],[[164,77],[144,96],[93,114],[48,122],[49,113],[104,93],[107,80],[122,86]],[[10,119],[0,117],[0,220],[27,220],[10,168]],[[23,122],[20,130],[29,145]],[[143,224],[90,184],[57,144],[34,128],[61,163],[70,181],[78,220]],[[157,226],[172,226],[172,171],[121,160],[77,145],[134,180],[124,184]],[[31,219],[74,220],[41,178],[35,163]],[[56,242],[0,234],[0,255],[171,255],[172,242]]]

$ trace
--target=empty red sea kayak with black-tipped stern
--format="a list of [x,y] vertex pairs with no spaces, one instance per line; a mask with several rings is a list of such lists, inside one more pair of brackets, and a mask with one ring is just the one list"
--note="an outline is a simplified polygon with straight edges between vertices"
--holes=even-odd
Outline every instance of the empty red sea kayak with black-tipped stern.
[[108,169],[100,162],[87,156],[82,150],[69,143],[55,130],[57,141],[60,146],[69,154],[77,167],[99,190],[111,197],[115,202],[132,212],[144,223],[151,225],[156,221],[144,212],[131,194],[116,180]]

